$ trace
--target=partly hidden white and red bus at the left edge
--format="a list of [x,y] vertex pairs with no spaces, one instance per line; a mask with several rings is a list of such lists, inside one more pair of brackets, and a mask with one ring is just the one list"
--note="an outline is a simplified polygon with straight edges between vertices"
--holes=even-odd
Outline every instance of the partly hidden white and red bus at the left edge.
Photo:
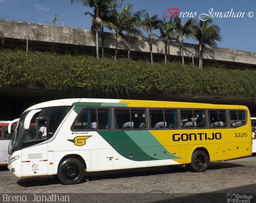
[[8,146],[10,134],[8,134],[8,124],[10,121],[0,120],[0,166],[8,165]]

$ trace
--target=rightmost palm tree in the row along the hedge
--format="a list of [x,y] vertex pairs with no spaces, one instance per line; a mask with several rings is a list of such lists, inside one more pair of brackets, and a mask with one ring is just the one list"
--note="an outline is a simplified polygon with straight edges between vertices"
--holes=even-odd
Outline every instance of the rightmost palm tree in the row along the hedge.
[[216,41],[222,41],[220,36],[220,28],[216,25],[210,25],[212,19],[200,20],[197,25],[194,26],[194,39],[199,42],[199,67],[203,68],[203,47],[208,45],[210,47],[215,47],[217,45]]

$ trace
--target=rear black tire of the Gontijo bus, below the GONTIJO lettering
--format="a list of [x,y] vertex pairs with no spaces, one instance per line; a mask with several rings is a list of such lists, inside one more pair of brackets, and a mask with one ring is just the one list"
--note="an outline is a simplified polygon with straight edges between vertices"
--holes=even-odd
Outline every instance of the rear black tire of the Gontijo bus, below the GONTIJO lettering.
[[194,151],[189,168],[194,172],[204,172],[208,168],[209,157],[201,150]]

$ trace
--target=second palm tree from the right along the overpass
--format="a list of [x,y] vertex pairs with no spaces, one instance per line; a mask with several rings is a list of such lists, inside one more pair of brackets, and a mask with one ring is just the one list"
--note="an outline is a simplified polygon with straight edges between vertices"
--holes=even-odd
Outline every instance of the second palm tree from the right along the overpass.
[[176,35],[180,37],[181,44],[181,53],[182,53],[182,65],[184,65],[184,36],[186,38],[192,37],[193,34],[193,26],[196,24],[196,21],[193,18],[190,18],[184,25],[182,24],[181,18],[175,18],[175,30]]

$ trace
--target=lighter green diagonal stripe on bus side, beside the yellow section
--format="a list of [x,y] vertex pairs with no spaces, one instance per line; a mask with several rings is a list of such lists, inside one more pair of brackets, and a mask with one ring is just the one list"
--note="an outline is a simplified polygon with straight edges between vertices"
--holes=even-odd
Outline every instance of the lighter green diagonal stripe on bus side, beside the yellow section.
[[[148,156],[154,159],[156,159],[154,156],[157,156],[158,160],[180,158],[168,152],[168,150],[166,150],[166,148],[162,146],[162,144],[148,130],[127,130],[125,132],[139,147],[142,147],[143,151],[145,150],[144,152],[147,153]],[[150,148],[149,152],[146,148],[147,146]]]

